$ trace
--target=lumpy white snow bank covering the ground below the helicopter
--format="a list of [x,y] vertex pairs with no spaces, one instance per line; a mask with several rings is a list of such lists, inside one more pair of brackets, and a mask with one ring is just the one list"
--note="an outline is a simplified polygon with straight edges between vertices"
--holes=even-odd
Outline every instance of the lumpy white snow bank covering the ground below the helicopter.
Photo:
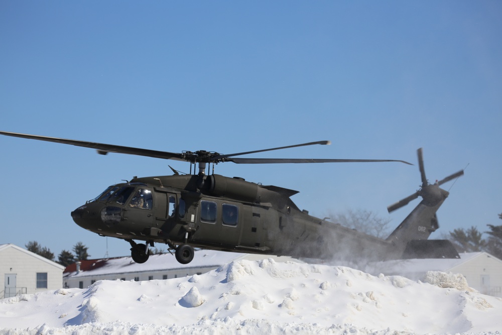
[[[238,260],[185,278],[0,300],[0,334],[501,334],[502,299],[462,277]],[[432,283],[432,284],[431,284]]]

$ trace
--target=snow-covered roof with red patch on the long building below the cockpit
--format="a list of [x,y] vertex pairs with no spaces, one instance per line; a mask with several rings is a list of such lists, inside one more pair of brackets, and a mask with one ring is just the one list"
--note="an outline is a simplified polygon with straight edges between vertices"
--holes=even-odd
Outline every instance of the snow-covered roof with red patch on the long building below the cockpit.
[[195,267],[218,267],[246,256],[247,254],[215,250],[195,250],[193,261],[186,265],[178,263],[174,255],[169,253],[151,255],[148,261],[143,264],[136,263],[131,256],[85,260],[81,261],[80,272],[76,271],[76,264],[71,264],[64,270],[63,277],[68,279],[74,277],[165,271]]

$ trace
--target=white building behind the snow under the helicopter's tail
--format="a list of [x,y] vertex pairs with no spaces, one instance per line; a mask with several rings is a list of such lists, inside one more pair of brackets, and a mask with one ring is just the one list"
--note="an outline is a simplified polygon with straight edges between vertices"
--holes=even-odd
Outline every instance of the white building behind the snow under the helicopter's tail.
[[[369,270],[368,270],[369,269]],[[456,259],[410,259],[371,264],[366,271],[423,280],[427,271],[461,274],[469,287],[480,293],[502,297],[502,260],[485,252],[462,253]]]

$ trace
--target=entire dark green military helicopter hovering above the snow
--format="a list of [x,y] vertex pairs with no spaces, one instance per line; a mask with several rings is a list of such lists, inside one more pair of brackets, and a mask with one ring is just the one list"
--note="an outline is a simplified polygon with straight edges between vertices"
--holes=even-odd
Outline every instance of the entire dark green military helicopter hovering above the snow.
[[[190,174],[179,174],[171,168],[174,174],[170,176],[134,177],[129,182],[109,186],[71,212],[73,220],[82,228],[129,242],[131,256],[138,263],[148,260],[149,246],[153,247],[155,243],[167,244],[182,264],[192,261],[194,247],[347,261],[361,257],[366,260],[458,257],[449,241],[428,238],[439,227],[436,211],[448,196],[448,192],[439,186],[461,176],[463,170],[429,184],[421,149],[418,150],[422,177],[420,189],[389,206],[388,210],[402,207],[418,196],[422,201],[387,239],[380,239],[300,210],[290,199],[297,191],[217,175],[214,174],[214,165],[213,173],[206,174],[206,166],[221,162],[407,163],[405,161],[236,158],[265,151],[329,144],[328,141],[223,155],[207,151],[171,153],[11,132],[0,134],[92,148],[100,154],[114,152],[190,162]],[[198,164],[198,173],[195,164]],[[135,240],[145,243],[136,243]]]

